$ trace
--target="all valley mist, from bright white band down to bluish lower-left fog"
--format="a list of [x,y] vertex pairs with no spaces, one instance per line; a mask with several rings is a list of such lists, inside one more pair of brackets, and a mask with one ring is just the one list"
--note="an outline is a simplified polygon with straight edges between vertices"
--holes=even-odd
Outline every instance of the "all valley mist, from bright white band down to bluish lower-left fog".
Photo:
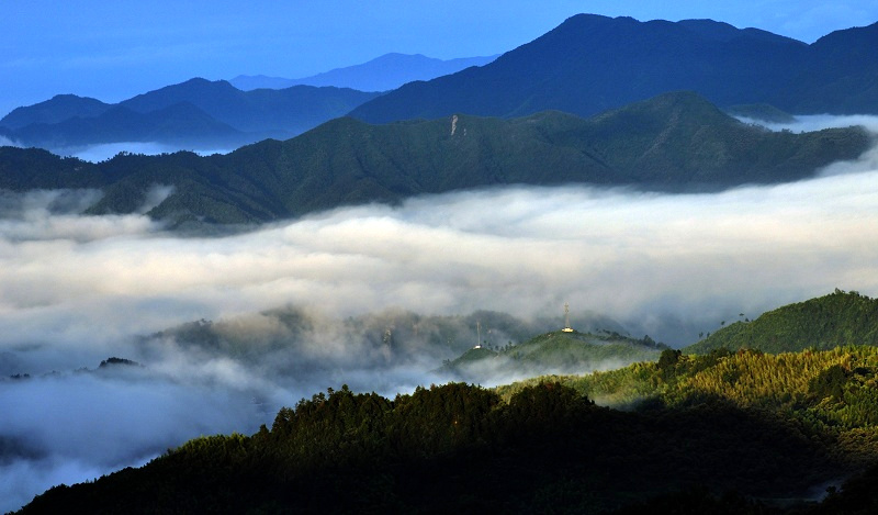
[[222,237],[81,215],[98,191],[4,192],[0,510],[327,388],[447,380],[476,322],[504,346],[562,327],[567,302],[575,328],[680,347],[835,288],[874,296],[876,183],[873,150],[787,184],[484,189]]

